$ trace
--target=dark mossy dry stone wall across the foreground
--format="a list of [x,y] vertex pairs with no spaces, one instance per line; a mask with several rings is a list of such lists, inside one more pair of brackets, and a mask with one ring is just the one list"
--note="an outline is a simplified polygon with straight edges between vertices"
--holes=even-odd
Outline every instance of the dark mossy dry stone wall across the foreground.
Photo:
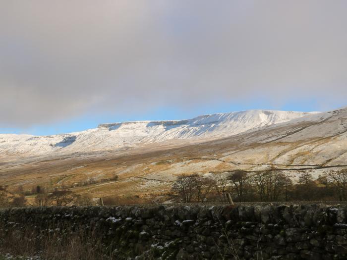
[[115,259],[127,251],[137,260],[148,255],[162,260],[343,260],[346,210],[323,205],[11,208],[0,210],[0,224],[2,232],[94,231],[112,247]]

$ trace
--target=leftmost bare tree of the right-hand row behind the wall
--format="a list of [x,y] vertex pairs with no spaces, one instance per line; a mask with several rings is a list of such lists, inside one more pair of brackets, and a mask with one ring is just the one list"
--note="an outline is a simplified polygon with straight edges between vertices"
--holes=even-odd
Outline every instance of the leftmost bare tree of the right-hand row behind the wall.
[[196,187],[194,185],[194,178],[196,175],[180,175],[173,183],[172,191],[176,194],[181,201],[185,203],[191,202],[194,194],[196,193]]

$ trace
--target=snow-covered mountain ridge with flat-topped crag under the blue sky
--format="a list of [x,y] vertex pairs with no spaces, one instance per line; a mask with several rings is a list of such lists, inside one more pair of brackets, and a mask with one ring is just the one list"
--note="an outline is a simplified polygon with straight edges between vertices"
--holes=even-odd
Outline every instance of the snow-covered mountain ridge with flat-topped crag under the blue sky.
[[[314,113],[314,112],[313,112]],[[206,140],[300,118],[310,112],[247,110],[201,115],[178,121],[134,121],[101,124],[98,128],[70,134],[32,136],[0,134],[0,158],[48,154],[116,151],[168,140]]]

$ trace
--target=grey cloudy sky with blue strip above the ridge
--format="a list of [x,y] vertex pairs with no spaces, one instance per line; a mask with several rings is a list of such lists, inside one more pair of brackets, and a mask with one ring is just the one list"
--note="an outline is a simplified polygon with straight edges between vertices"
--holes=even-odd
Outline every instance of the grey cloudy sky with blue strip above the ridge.
[[345,0],[0,0],[0,133],[347,105]]

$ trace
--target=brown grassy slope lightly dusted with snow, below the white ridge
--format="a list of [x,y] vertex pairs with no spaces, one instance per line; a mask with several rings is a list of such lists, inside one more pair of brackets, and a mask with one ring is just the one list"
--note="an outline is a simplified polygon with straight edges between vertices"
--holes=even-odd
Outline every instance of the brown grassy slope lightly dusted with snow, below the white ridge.
[[[306,116],[271,127],[201,143],[172,140],[130,151],[0,163],[0,184],[30,189],[65,186],[94,198],[142,196],[168,192],[179,174],[218,174],[277,167],[321,172],[347,165],[347,108]],[[111,180],[117,174],[117,181]],[[77,187],[94,180],[96,183]]]

